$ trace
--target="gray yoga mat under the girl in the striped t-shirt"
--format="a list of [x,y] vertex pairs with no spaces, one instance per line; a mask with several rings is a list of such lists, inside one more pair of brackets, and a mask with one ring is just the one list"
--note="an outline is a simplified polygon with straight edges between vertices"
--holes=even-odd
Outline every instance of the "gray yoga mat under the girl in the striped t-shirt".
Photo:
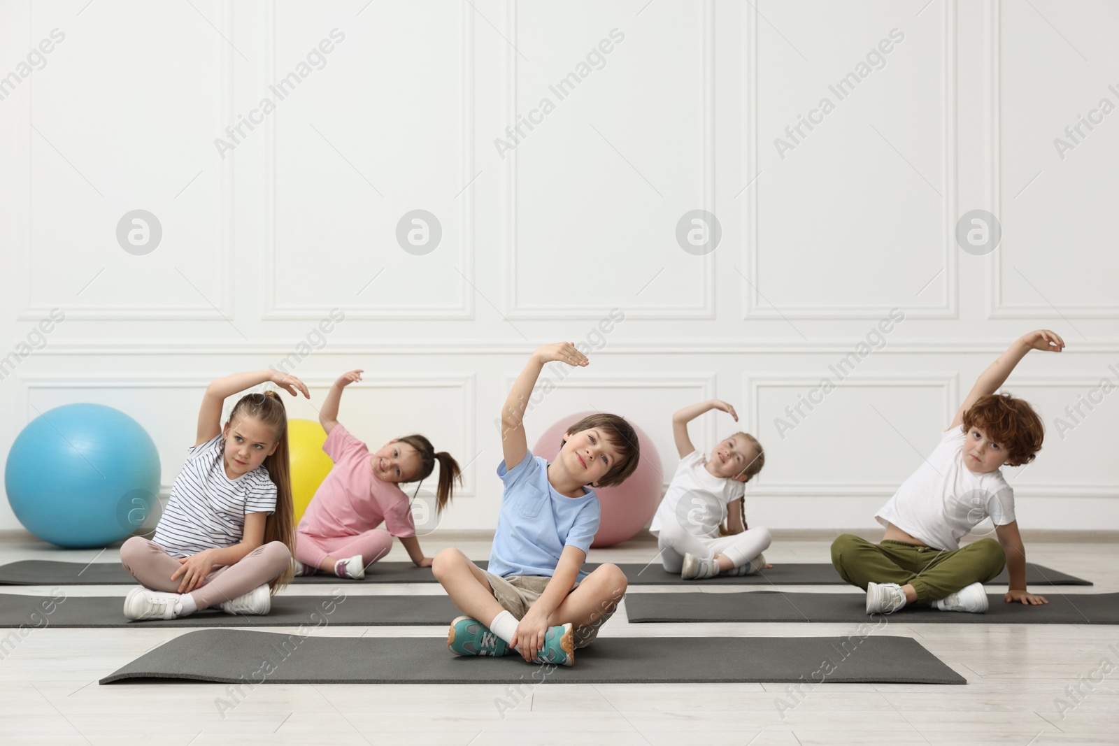
[[[124,616],[124,596],[49,596],[0,593],[0,627],[120,626],[379,626],[433,624],[449,626],[461,612],[445,595],[438,596],[288,596],[272,598],[262,616],[226,614],[207,608],[177,620],[132,622]],[[4,635],[0,634],[0,645]]]

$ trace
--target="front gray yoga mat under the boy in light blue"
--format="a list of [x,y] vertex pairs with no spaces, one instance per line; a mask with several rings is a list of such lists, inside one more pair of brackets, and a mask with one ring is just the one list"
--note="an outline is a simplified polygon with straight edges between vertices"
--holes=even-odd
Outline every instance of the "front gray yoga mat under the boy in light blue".
[[[829,661],[830,665],[826,665]],[[548,668],[552,670],[548,671]],[[600,638],[575,665],[459,658],[442,639],[326,638],[246,630],[184,634],[101,679],[261,683],[967,683],[909,638]],[[232,703],[232,702],[231,702]],[[510,702],[510,706],[513,702]]]

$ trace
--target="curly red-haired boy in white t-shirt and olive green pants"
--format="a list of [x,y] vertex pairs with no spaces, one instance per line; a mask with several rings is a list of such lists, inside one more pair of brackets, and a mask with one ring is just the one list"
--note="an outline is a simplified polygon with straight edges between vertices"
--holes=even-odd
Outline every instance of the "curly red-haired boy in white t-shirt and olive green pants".
[[[897,489],[878,514],[881,544],[844,533],[831,545],[843,579],[866,589],[866,613],[890,614],[914,602],[941,611],[982,613],[982,584],[1009,569],[1007,603],[1047,604],[1026,591],[1026,550],[1014,514],[1014,491],[1003,464],[1021,466],[1042,447],[1041,417],[1026,402],[995,391],[1029,350],[1060,352],[1049,330],[1014,342],[979,376],[937,450]],[[960,547],[990,517],[994,539]]]

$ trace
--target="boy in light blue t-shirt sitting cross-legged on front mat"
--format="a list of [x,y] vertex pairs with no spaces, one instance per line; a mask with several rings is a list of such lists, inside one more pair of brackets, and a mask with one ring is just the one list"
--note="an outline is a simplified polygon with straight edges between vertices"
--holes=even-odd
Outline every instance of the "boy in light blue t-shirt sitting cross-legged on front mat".
[[[617,415],[595,414],[564,434],[549,464],[525,440],[528,397],[544,365],[589,365],[568,342],[533,353],[501,408],[498,476],[505,484],[489,572],[458,549],[435,555],[432,572],[467,615],[455,618],[446,645],[459,655],[505,655],[572,665],[575,648],[598,635],[626,593],[626,575],[604,564],[582,570],[599,530],[591,487],[620,484],[640,460],[637,434]],[[510,469],[509,464],[514,464]]]

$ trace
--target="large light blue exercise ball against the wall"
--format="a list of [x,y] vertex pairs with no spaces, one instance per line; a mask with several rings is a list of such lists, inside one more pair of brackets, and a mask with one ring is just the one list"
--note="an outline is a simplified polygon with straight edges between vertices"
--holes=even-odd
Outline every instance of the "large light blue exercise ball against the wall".
[[159,504],[159,453],[135,419],[101,404],[39,415],[8,453],[4,489],[28,531],[59,547],[104,547]]

